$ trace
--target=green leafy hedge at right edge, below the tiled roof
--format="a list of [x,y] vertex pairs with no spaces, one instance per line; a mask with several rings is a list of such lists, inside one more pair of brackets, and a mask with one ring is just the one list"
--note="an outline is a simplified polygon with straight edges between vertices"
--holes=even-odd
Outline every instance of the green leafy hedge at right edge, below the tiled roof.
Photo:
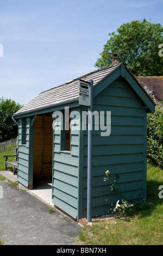
[[163,168],[163,107],[147,115],[147,157]]

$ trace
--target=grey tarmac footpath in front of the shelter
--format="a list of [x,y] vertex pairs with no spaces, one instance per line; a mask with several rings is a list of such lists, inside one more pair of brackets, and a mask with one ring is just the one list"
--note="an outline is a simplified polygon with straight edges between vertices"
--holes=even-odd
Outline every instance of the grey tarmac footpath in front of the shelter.
[[60,211],[48,207],[26,190],[0,180],[0,237],[5,245],[79,245],[82,227]]

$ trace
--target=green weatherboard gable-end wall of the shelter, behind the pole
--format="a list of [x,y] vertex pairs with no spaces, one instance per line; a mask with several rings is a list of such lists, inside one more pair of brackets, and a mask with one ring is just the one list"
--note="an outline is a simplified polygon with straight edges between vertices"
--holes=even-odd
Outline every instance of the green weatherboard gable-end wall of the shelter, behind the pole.
[[[118,200],[103,181],[106,170],[118,174],[120,199],[145,197],[145,117],[143,103],[127,82],[118,78],[93,99],[93,111],[111,111],[111,134],[93,130],[92,216],[107,214]],[[95,128],[95,127],[94,127]],[[87,202],[87,132],[84,132],[83,217]]]

